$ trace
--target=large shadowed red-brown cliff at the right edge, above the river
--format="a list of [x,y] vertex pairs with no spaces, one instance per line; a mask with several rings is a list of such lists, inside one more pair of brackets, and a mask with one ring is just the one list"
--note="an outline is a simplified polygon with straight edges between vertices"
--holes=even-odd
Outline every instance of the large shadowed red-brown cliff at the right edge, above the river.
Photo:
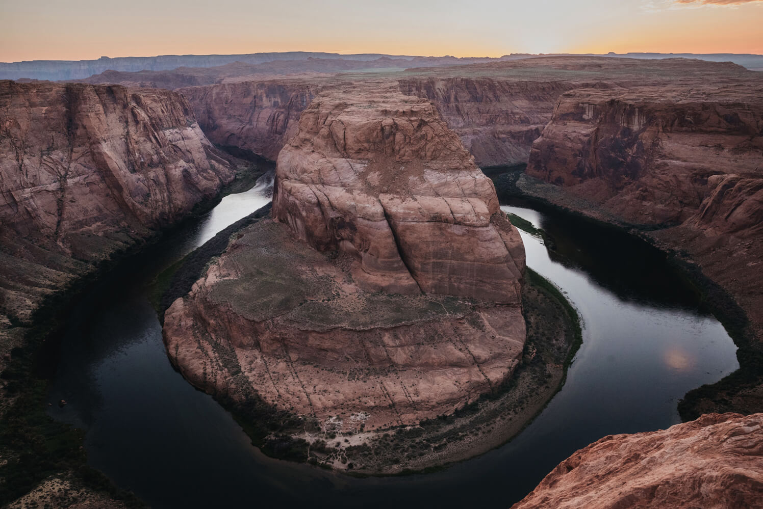
[[731,290],[763,338],[763,80],[749,74],[724,86],[565,93],[526,173],[656,230]]

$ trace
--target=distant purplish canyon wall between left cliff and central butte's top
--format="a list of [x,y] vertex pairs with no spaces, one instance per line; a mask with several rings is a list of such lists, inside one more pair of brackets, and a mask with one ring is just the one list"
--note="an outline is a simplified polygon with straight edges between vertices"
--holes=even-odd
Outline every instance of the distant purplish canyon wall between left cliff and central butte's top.
[[234,146],[275,161],[294,136],[299,115],[315,85],[307,82],[241,82],[181,88],[198,123],[212,142]]

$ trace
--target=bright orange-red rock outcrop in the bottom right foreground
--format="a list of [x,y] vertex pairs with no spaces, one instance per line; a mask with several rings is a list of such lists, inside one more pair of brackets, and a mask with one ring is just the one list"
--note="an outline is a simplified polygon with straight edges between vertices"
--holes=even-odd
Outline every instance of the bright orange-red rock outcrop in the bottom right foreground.
[[610,435],[559,463],[513,509],[763,507],[763,414],[709,414]]

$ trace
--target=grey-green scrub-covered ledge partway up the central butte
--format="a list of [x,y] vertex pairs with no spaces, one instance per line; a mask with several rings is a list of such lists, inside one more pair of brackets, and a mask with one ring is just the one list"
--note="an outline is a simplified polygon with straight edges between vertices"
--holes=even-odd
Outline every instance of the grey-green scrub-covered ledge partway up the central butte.
[[287,226],[265,219],[241,232],[206,283],[212,300],[246,319],[278,316],[315,331],[388,328],[459,318],[475,309],[476,301],[464,297],[364,291],[346,270],[350,263],[346,255],[320,253]]

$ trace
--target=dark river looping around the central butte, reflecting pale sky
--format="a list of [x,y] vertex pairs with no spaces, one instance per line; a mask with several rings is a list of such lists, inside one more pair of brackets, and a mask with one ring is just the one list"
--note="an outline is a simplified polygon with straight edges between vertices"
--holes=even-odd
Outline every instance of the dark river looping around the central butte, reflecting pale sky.
[[584,322],[565,386],[535,421],[503,447],[427,475],[354,479],[270,459],[172,369],[148,299],[157,274],[266,204],[265,191],[261,179],[125,261],[76,304],[63,335],[50,401],[68,405],[52,415],[84,428],[89,463],[152,507],[510,507],[588,443],[678,423],[685,392],[738,367],[723,326],[658,251],[614,229],[507,205],[554,238],[549,251],[523,232],[527,264]]

